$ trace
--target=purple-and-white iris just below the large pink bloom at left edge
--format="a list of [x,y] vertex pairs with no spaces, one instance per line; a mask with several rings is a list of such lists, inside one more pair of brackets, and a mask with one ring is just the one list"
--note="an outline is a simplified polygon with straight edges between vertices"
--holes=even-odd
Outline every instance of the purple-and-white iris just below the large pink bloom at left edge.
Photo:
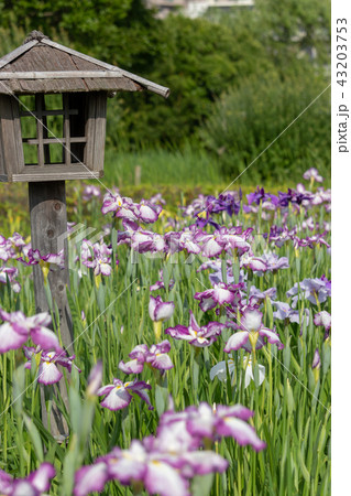
[[59,382],[63,377],[61,370],[58,370],[57,365],[67,368],[67,370],[72,371],[72,366],[74,366],[79,373],[81,371],[76,365],[73,364],[75,359],[75,355],[67,357],[66,352],[55,353],[55,352],[44,352],[40,347],[33,348],[23,346],[23,352],[28,362],[24,364],[24,367],[31,369],[32,367],[32,357],[33,355],[37,355],[40,360],[39,370],[37,370],[37,381],[40,384],[45,384],[46,386]]

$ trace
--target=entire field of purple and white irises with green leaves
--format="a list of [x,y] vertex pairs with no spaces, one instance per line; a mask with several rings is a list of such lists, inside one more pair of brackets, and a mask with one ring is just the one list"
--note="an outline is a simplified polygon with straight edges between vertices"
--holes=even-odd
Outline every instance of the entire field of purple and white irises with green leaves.
[[[322,182],[310,169],[284,192],[177,208],[86,185],[68,209],[66,349],[47,282],[64,254],[33,250],[24,223],[0,236],[0,494],[330,494]],[[35,314],[36,265],[51,313]]]

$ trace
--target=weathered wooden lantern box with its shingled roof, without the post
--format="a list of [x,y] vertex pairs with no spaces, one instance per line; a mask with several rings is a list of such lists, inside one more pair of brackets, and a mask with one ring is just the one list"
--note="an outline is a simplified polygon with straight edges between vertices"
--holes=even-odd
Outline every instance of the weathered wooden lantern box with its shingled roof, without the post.
[[107,97],[144,88],[169,93],[32,32],[0,58],[0,181],[101,177]]

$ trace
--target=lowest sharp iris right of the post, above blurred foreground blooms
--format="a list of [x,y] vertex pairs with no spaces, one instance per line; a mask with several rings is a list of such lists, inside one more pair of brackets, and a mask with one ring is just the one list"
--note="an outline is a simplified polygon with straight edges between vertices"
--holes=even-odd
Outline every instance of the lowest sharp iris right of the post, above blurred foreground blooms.
[[132,382],[123,384],[122,380],[114,378],[113,384],[98,389],[97,395],[105,396],[105,399],[100,403],[101,407],[112,411],[127,408],[133,399],[131,392],[144,400],[149,405],[149,410],[153,410],[154,407],[150,402],[146,392],[147,389],[151,389],[151,386],[143,380],[133,380]]

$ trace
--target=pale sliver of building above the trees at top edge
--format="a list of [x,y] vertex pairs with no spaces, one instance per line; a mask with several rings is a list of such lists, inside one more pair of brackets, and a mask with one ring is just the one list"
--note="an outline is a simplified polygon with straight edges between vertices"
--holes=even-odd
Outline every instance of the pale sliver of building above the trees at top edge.
[[208,9],[230,9],[232,7],[253,7],[254,0],[146,0],[150,8],[157,9],[157,18],[165,18],[178,10],[188,18],[199,18]]

